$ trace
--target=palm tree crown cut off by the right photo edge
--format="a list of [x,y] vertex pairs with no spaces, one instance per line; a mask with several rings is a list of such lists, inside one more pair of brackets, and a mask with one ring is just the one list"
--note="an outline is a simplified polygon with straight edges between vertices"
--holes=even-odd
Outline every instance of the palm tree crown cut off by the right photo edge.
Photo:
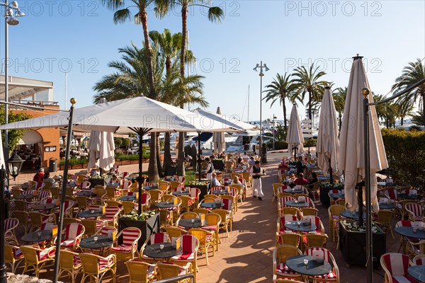
[[[392,91],[395,91],[395,94],[404,89],[409,88],[409,86],[418,83],[422,79],[425,79],[425,65],[422,64],[421,59],[416,59],[416,62],[409,62],[409,65],[404,67],[402,75],[395,79],[395,84],[392,86]],[[419,108],[422,106],[421,112],[425,112],[425,83],[422,83],[417,88],[414,88],[409,93],[404,94],[398,102],[407,103],[409,105],[415,105],[416,100],[419,100]],[[425,124],[425,117],[424,117]]]

